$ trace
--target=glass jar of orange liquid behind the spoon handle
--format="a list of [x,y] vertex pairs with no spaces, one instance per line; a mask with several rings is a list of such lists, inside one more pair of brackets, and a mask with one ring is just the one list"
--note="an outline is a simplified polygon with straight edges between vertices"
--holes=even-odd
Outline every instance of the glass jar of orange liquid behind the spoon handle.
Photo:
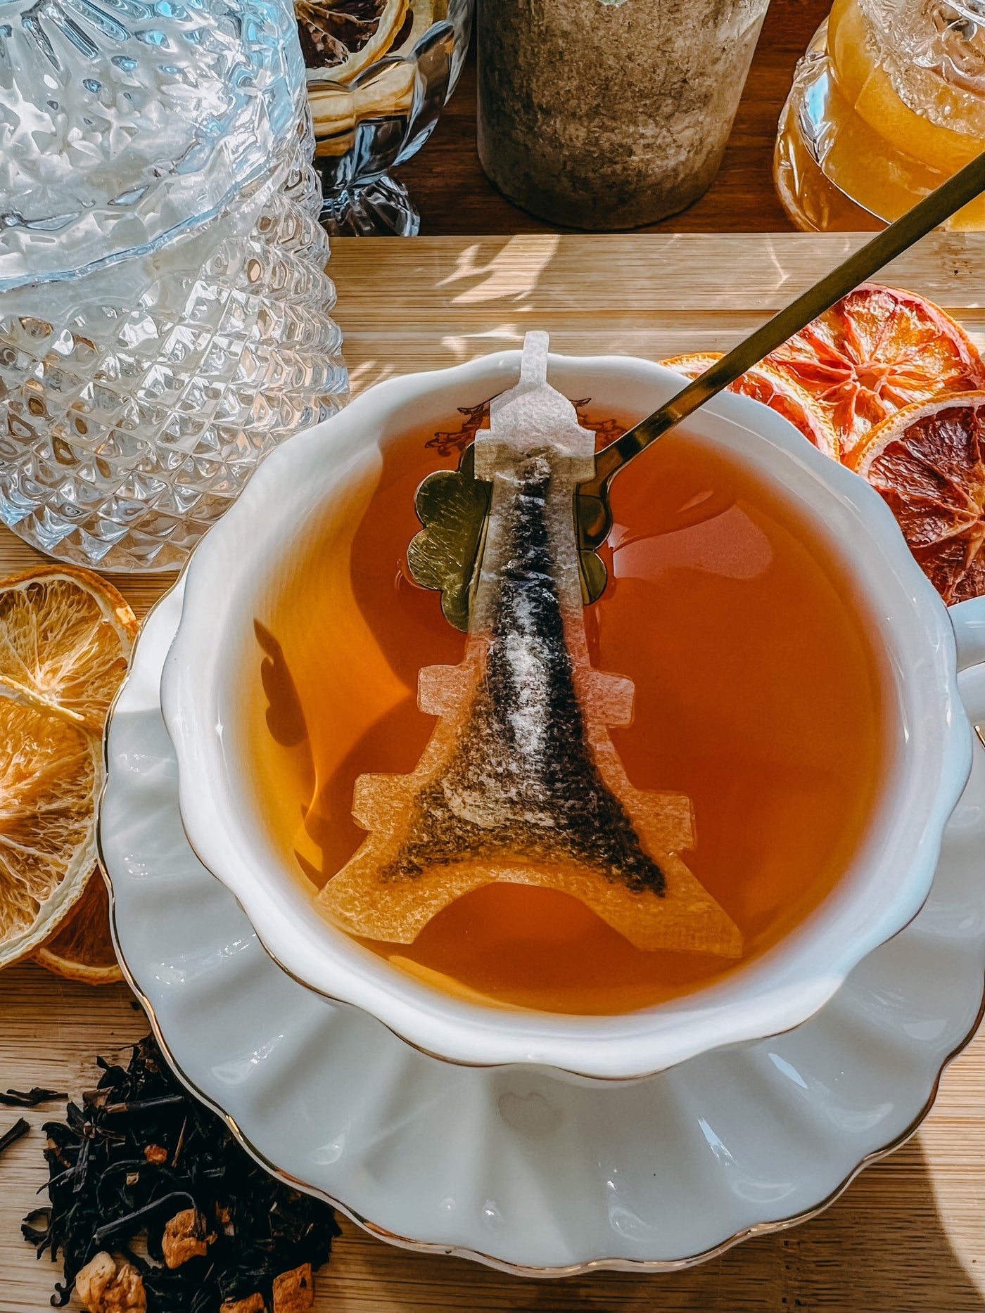
[[[835,0],[797,64],[774,176],[797,227],[879,228],[985,150],[985,0]],[[985,196],[946,227],[985,230]]]

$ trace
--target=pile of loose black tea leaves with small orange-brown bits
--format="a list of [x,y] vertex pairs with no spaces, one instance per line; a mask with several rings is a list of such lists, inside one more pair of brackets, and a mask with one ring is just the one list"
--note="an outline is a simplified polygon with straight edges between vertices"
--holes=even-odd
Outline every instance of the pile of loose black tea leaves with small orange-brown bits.
[[332,1209],[253,1162],[150,1036],[126,1067],[97,1062],[97,1088],[45,1124],[50,1208],[21,1225],[38,1255],[62,1258],[51,1302],[67,1304],[76,1275],[108,1253],[139,1278],[148,1313],[217,1313],[253,1296],[271,1313],[278,1278],[327,1262]]

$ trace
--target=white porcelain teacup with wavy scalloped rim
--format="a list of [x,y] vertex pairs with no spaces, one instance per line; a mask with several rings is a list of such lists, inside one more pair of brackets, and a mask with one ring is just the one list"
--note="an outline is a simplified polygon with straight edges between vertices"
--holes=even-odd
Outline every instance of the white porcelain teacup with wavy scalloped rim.
[[[519,360],[519,352],[503,352],[391,379],[277,449],[188,566],[162,705],[177,752],[188,838],[285,970],[448,1061],[541,1064],[579,1077],[626,1079],[800,1024],[915,915],[971,768],[971,734],[957,699],[947,609],[883,499],[779,415],[724,394],[688,429],[776,487],[843,559],[885,656],[896,708],[892,760],[868,831],[835,889],[749,965],[684,998],[620,1016],[469,1002],[391,968],[334,927],[288,869],[252,805],[244,699],[230,672],[242,670],[248,654],[255,659],[253,617],[269,613],[286,586],[285,562],[332,507],[360,488],[365,495],[381,452],[410,428],[439,427],[457,407],[511,387]],[[569,397],[591,395],[600,411],[623,414],[655,410],[680,387],[679,376],[629,357],[552,356],[549,379]]]

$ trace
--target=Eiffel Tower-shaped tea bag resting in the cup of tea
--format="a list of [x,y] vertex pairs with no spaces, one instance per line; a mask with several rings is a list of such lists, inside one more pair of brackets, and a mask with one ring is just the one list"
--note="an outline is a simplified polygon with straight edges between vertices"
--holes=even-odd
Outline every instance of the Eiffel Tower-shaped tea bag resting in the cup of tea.
[[492,500],[465,659],[420,671],[431,739],[412,773],[359,777],[369,834],[319,903],[353,935],[408,944],[473,889],[542,885],[637,948],[737,957],[738,928],[679,856],[690,800],[633,788],[608,734],[634,689],[588,659],[573,496],[595,441],[548,385],[546,353],[528,334],[520,382],[475,435]]

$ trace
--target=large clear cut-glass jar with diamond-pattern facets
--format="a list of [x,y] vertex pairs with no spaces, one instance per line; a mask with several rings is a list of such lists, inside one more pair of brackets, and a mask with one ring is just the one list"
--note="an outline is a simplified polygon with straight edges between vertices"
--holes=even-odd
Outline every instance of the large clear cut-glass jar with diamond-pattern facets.
[[180,566],[347,391],[282,0],[38,7],[0,28],[0,517]]

